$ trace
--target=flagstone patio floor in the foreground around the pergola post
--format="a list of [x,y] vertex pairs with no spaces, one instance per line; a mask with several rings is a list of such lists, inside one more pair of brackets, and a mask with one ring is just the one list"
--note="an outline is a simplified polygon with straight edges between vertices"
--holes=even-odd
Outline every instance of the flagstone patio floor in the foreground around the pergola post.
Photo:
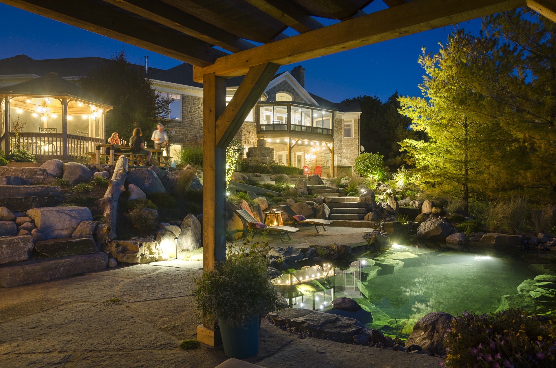
[[[182,350],[200,324],[192,279],[201,262],[110,268],[46,284],[0,289],[0,366],[214,367],[221,349]],[[238,295],[237,297],[241,297]],[[438,367],[435,357],[305,339],[263,320],[264,367]]]

